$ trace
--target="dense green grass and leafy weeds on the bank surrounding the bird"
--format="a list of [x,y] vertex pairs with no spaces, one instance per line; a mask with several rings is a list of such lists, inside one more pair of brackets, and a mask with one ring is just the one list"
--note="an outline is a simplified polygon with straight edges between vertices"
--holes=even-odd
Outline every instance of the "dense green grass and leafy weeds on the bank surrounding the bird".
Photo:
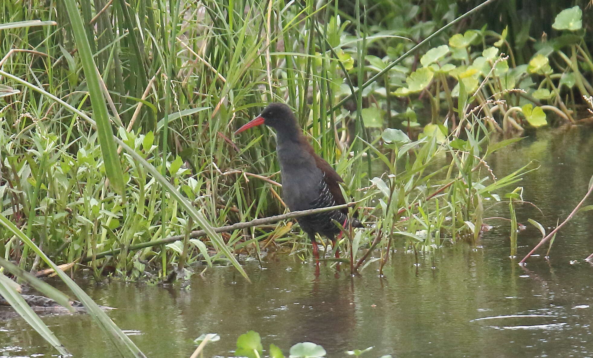
[[[284,223],[223,236],[212,228],[285,211],[274,184],[272,132],[262,127],[232,136],[270,101],[295,108],[315,150],[358,201],[354,211],[373,226],[342,242],[354,261],[361,260],[358,248],[373,242],[385,257],[393,239],[414,250],[434,250],[467,232],[475,241],[482,200],[521,174],[494,180],[486,159],[501,145],[489,146],[492,122],[470,107],[486,107],[486,93],[462,86],[452,98],[444,75],[424,92],[433,98],[433,116],[418,136],[420,102],[392,92],[403,83],[394,79],[406,76],[397,64],[412,63],[406,56],[419,47],[373,33],[365,16],[349,24],[339,2],[171,1],[123,8],[114,2],[98,16],[93,6],[64,4],[3,18],[12,25],[3,30],[9,36],[2,37],[2,49],[27,52],[10,53],[0,73],[10,86],[0,122],[2,215],[56,263],[88,261],[97,279],[107,266],[117,276],[138,279],[144,270],[166,276],[180,258],[181,266],[218,260],[242,271],[234,254],[259,255],[259,242]],[[44,22],[15,23],[25,18]],[[377,51],[388,55],[369,55]],[[482,88],[498,78],[489,81]],[[444,90],[445,111],[457,111],[466,128],[436,117]],[[392,113],[406,101],[406,111]],[[208,236],[199,244],[186,239],[128,250],[200,228]],[[30,269],[36,254],[7,230],[0,228],[7,238],[0,254]],[[298,231],[283,236],[276,244],[308,245]],[[114,256],[94,258],[116,249]]]

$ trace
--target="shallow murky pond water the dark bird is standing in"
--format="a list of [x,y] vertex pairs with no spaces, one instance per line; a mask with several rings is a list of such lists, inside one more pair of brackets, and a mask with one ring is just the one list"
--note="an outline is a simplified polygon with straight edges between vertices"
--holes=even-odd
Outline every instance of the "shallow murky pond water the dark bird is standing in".
[[[527,267],[517,265],[541,238],[527,219],[553,226],[584,196],[593,174],[592,134],[540,130],[490,159],[499,175],[531,159],[541,165],[516,184],[541,213],[529,204],[518,208],[528,228],[519,233],[515,260],[508,223],[493,220],[479,247],[444,248],[420,256],[418,265],[400,250],[383,278],[371,264],[356,277],[322,266],[314,280],[311,263],[270,255],[263,269],[247,264],[251,285],[228,267],[195,275],[189,290],[79,283],[100,305],[118,308],[108,314],[149,357],[189,357],[192,340],[203,333],[221,336],[205,356],[232,356],[238,335],[248,330],[262,335],[264,349],[273,343],[286,356],[292,344],[313,341],[328,357],[369,346],[374,349],[363,357],[593,357],[593,266],[584,261],[593,252],[593,213],[560,231],[549,260],[546,245]],[[76,357],[118,356],[88,315],[43,320]],[[0,357],[56,354],[20,318],[0,321],[0,347]]]

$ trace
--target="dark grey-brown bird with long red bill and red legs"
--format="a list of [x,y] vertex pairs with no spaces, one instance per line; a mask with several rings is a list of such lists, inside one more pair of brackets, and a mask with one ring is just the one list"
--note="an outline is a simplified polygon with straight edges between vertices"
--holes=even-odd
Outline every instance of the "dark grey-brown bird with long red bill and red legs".
[[[339,204],[346,200],[340,190],[342,177],[331,165],[315,153],[303,135],[297,119],[290,107],[284,103],[270,103],[259,116],[241,126],[235,135],[254,126],[265,124],[276,131],[276,153],[282,178],[282,196],[286,206],[292,211],[317,209]],[[336,220],[344,228],[362,228],[360,220],[348,219],[347,209],[311,214],[297,218],[302,231],[308,235],[313,246],[315,263],[319,265],[319,248],[315,234],[326,236],[336,249],[336,235],[342,235]]]

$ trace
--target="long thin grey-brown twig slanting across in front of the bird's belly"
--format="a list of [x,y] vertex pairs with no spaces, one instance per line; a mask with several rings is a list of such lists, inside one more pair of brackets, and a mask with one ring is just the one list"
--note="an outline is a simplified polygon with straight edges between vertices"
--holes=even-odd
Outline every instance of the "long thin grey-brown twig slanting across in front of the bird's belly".
[[[345,207],[355,206],[355,204],[362,202],[362,200],[366,200],[366,199],[367,198],[365,197],[364,199],[358,200],[357,202],[350,202],[347,204],[328,206],[328,207],[320,207],[318,209],[300,210],[300,211],[295,211],[295,212],[289,212],[289,213],[282,214],[282,215],[268,216],[267,218],[254,219],[254,220],[247,221],[247,222],[238,222],[233,225],[220,226],[218,228],[213,228],[213,229],[214,229],[214,232],[216,232],[218,234],[220,232],[228,232],[228,231],[234,231],[234,230],[239,230],[239,229],[251,228],[251,226],[274,223],[274,222],[278,222],[280,220],[300,218],[301,216],[305,216],[305,215],[329,212],[331,210],[344,209]],[[193,238],[197,238],[200,236],[206,236],[206,235],[207,235],[206,231],[197,230],[197,231],[192,231],[191,234],[189,234],[189,236],[187,236],[187,237],[193,239]],[[139,249],[145,248],[145,247],[170,244],[171,242],[183,240],[184,238],[186,238],[186,235],[169,236],[168,238],[164,238],[164,239],[158,239],[158,240],[153,240],[153,241],[148,241],[148,242],[142,242],[141,244],[130,245],[129,247],[126,248],[126,250],[128,252],[130,252],[130,251],[139,250]],[[99,259],[99,258],[103,258],[106,256],[116,255],[116,254],[119,254],[120,251],[122,251],[122,248],[116,248],[114,250],[100,252],[97,255],[95,255],[95,258]],[[92,255],[85,257],[82,260],[82,262],[85,263],[85,262],[88,262],[91,260],[93,260]]]

